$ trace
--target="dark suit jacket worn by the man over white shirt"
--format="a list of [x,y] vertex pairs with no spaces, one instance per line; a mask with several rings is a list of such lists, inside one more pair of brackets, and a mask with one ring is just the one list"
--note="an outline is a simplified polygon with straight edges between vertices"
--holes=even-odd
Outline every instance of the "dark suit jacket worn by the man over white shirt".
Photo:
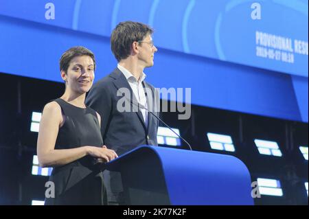
[[[152,92],[146,93],[148,107],[155,115],[154,108],[159,106],[159,93],[152,85],[143,82],[144,89]],[[117,102],[124,96],[117,96],[119,89],[126,88],[131,97],[126,104],[135,106],[137,99],[126,80],[124,74],[118,69],[96,82],[87,95],[86,104],[101,115],[101,133],[104,145],[115,150],[119,155],[141,145],[157,146],[157,128],[159,121],[151,113],[148,113],[148,127],[146,127],[141,111],[119,112]],[[150,98],[151,97],[151,98]],[[130,98],[132,98],[130,102]],[[124,100],[124,99],[122,99]],[[155,103],[156,102],[156,103]],[[130,107],[132,109],[132,107]],[[104,171],[105,185],[108,192],[108,201],[123,203],[122,181],[118,173]]]

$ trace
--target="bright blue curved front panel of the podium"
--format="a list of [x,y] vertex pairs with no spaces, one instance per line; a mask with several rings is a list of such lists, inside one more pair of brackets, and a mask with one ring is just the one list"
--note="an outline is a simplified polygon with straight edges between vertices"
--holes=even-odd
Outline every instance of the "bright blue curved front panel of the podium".
[[152,148],[172,205],[253,205],[247,167],[229,155]]

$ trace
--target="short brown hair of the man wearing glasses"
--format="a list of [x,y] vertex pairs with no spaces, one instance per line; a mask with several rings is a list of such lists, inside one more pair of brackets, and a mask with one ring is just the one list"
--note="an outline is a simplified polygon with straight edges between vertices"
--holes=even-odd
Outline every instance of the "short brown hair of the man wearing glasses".
[[152,28],[144,23],[133,21],[119,23],[111,34],[111,50],[117,61],[128,58],[133,42],[142,41],[152,33]]

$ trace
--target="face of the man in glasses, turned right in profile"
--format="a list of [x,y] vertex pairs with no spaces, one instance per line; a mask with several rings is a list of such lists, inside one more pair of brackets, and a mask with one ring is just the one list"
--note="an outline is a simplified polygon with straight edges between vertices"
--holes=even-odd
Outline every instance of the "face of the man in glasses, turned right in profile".
[[139,61],[144,67],[152,67],[154,64],[153,59],[155,52],[158,51],[157,47],[153,45],[152,38],[148,34],[143,41],[139,41]]

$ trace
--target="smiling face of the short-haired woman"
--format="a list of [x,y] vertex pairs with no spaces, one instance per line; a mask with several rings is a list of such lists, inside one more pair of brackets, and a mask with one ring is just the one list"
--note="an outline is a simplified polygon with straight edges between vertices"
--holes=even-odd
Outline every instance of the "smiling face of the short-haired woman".
[[61,71],[61,77],[67,84],[67,89],[76,93],[87,93],[94,80],[94,64],[90,56],[72,58],[67,73]]

